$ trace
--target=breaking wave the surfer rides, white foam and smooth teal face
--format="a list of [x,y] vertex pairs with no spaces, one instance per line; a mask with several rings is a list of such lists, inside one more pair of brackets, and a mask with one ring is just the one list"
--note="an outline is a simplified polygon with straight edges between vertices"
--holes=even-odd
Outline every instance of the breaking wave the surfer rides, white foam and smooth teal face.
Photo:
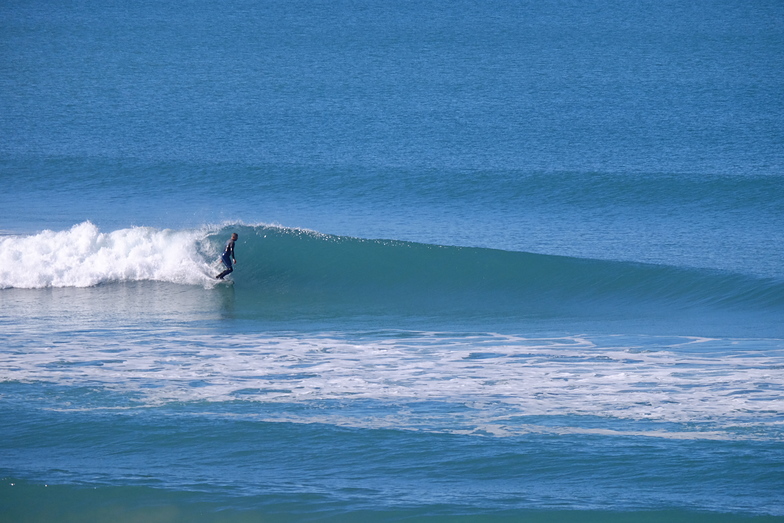
[[641,304],[784,310],[784,282],[721,271],[369,240],[271,225],[108,233],[90,222],[0,238],[0,288],[161,281],[212,286],[238,232],[238,287],[303,303],[510,312]]

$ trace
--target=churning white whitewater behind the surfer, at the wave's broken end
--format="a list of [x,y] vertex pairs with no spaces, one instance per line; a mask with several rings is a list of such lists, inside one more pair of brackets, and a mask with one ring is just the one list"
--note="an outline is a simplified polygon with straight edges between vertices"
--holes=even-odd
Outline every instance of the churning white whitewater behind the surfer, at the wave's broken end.
[[156,280],[205,284],[206,230],[132,227],[109,233],[90,222],[67,231],[0,238],[0,289],[90,287]]

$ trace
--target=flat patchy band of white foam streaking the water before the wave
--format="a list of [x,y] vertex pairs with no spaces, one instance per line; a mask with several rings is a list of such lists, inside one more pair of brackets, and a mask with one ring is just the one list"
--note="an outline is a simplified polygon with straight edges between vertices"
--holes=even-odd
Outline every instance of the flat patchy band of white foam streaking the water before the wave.
[[[710,341],[698,338],[667,340],[648,351],[600,345],[587,337],[446,338],[424,333],[360,341],[255,334],[117,339],[107,346],[105,338],[71,336],[6,352],[0,360],[0,379],[102,386],[130,394],[140,406],[371,400],[388,408],[372,419],[353,422],[339,421],[351,419],[342,411],[320,416],[346,425],[387,423],[497,435],[636,433],[612,427],[532,428],[520,421],[530,416],[589,416],[703,424],[677,434],[652,428],[648,435],[714,438],[716,430],[724,428],[737,432],[743,427],[780,426],[784,412],[780,347],[725,357],[682,350],[684,344]],[[30,340],[25,345],[31,347]],[[423,402],[435,406],[417,413]],[[466,413],[456,416],[451,407],[436,404],[461,406],[458,411]],[[286,421],[295,421],[299,415],[286,416]]]

